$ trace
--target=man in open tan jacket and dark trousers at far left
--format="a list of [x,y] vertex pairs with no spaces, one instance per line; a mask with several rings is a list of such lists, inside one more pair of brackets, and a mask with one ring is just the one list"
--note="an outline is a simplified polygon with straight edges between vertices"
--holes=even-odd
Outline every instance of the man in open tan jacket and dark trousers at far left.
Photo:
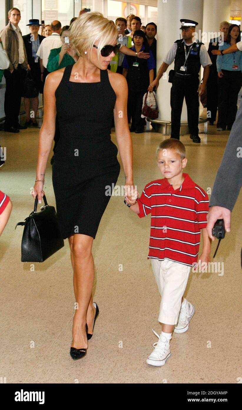
[[19,9],[10,9],[8,12],[9,24],[1,31],[0,37],[3,48],[9,58],[9,68],[5,70],[5,123],[4,130],[7,132],[19,132],[26,129],[18,122],[21,103],[21,93],[26,69],[30,69],[27,62],[27,54],[23,42],[22,33],[18,27],[20,21]]

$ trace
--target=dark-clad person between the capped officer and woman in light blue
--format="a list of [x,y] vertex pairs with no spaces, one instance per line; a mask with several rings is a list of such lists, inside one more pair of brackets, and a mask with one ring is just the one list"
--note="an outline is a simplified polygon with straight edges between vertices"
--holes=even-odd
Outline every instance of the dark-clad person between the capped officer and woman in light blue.
[[[220,24],[220,33],[224,33],[224,41],[226,41],[226,37],[228,34],[228,27],[230,24],[227,21],[222,21]],[[214,121],[216,121],[217,115],[217,104],[218,104],[218,96],[217,96],[217,66],[216,60],[217,55],[212,54],[212,50],[218,50],[219,45],[221,44],[221,35],[218,38],[211,39],[209,46],[208,46],[208,55],[212,61],[212,65],[210,66],[209,77],[207,81],[207,116],[210,125],[213,125]]]

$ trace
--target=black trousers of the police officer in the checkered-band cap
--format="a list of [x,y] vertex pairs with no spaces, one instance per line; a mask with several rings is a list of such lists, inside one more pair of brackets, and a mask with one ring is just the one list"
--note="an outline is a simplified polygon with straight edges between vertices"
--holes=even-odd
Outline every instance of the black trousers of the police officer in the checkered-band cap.
[[174,77],[171,88],[171,138],[180,139],[181,111],[183,100],[188,110],[188,128],[191,135],[198,135],[199,97],[197,89],[199,78]]

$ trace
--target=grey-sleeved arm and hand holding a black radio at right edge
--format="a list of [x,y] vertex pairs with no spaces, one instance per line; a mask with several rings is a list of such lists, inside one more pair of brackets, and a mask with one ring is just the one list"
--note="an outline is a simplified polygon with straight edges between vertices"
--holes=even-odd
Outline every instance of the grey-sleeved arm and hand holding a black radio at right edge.
[[235,122],[217,171],[210,210],[207,215],[208,235],[213,241],[212,229],[217,219],[224,219],[225,230],[230,232],[231,212],[242,186],[242,103],[237,111]]

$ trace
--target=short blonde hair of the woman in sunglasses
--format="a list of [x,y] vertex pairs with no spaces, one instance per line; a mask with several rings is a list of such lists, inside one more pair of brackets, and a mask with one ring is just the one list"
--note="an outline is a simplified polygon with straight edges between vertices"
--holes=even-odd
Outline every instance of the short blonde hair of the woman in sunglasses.
[[102,13],[83,13],[70,26],[70,43],[77,55],[82,57],[85,51],[91,54],[93,45],[100,40],[97,48],[97,59],[100,64],[100,51],[104,46],[118,38],[118,31],[113,21]]

